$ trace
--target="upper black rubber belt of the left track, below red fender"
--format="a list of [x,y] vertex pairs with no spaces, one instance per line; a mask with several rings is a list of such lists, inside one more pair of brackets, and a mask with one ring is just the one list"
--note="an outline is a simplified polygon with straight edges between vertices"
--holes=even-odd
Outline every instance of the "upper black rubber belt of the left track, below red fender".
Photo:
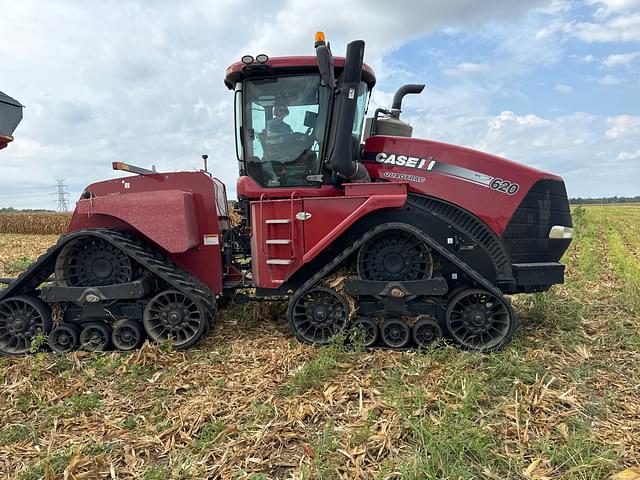
[[211,317],[215,316],[215,296],[207,285],[133,235],[110,229],[78,230],[61,236],[27,271],[20,274],[7,288],[0,290],[0,301],[15,295],[30,294],[36,290],[53,274],[56,258],[62,248],[80,237],[100,238],[109,242],[171,287],[202,304]]

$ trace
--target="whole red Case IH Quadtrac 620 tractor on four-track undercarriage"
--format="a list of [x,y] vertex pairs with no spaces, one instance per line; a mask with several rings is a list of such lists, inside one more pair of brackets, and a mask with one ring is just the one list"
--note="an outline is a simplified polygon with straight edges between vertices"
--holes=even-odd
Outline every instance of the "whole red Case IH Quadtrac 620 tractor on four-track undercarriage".
[[[505,294],[562,283],[572,223],[561,178],[411,138],[406,94],[365,121],[375,83],[364,42],[333,58],[231,65],[240,224],[204,171],[86,187],[66,235],[0,290],[0,351],[131,350],[144,338],[194,345],[220,299],[288,299],[291,332],[324,344],[360,329],[365,346],[504,346]],[[363,132],[364,128],[364,132]],[[339,285],[336,285],[338,284]],[[53,312],[53,314],[52,314]]]

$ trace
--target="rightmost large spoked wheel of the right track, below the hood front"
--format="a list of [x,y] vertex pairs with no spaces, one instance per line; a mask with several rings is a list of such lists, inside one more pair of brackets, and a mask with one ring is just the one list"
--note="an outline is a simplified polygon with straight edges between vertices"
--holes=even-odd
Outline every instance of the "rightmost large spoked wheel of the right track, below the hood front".
[[478,288],[463,290],[453,297],[445,321],[458,344],[480,352],[504,347],[516,329],[516,316],[509,301]]

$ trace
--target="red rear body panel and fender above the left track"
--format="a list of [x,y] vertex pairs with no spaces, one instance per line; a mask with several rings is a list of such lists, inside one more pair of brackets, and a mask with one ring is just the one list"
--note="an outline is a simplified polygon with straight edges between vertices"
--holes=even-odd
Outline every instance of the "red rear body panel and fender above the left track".
[[[94,197],[78,201],[68,231],[117,228],[134,233],[220,293],[220,245],[205,246],[203,241],[204,235],[220,238],[214,185],[202,172],[137,175],[94,183],[85,189]],[[185,247],[189,249],[184,251]]]

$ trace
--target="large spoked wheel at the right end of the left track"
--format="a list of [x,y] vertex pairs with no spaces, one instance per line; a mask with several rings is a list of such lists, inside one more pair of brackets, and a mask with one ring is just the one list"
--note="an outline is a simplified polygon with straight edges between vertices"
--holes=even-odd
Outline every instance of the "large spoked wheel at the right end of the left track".
[[206,332],[209,319],[202,305],[178,290],[165,290],[144,309],[142,324],[154,342],[169,339],[175,348],[193,346]]

